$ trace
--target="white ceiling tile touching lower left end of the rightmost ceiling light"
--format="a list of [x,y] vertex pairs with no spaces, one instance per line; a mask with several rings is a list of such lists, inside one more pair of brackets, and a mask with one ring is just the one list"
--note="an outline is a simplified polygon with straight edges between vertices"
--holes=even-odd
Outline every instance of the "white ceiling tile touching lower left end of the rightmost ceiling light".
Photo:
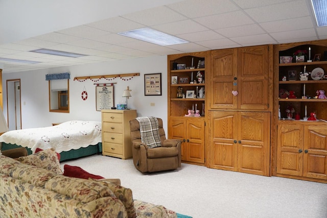
[[310,16],[260,23],[268,33],[313,28]]

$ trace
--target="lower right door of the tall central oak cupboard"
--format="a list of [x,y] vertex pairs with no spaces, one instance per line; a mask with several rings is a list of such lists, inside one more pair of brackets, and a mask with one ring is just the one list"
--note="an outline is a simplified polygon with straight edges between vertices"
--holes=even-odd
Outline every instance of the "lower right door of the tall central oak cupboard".
[[239,114],[238,171],[269,176],[270,113]]

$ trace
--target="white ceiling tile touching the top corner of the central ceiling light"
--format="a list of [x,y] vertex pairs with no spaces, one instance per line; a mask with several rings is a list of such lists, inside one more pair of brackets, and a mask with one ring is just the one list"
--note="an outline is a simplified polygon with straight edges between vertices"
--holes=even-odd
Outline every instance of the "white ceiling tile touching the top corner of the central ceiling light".
[[187,19],[185,16],[176,13],[165,6],[138,11],[123,15],[123,17],[138,23],[142,23],[145,26],[154,26],[162,23],[171,23]]

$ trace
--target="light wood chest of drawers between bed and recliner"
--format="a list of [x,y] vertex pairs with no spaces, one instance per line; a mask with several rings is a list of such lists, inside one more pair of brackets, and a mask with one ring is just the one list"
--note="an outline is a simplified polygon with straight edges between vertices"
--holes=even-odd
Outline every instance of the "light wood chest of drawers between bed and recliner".
[[136,110],[102,110],[102,155],[127,159],[132,157],[129,120]]

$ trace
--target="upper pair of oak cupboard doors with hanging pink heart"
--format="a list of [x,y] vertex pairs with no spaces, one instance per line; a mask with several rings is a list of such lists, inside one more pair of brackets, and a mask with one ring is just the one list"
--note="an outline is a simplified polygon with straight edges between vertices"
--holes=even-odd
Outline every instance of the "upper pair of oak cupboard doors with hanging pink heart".
[[272,104],[268,97],[270,49],[271,45],[260,45],[211,51],[211,91],[206,92],[206,107],[267,110]]

